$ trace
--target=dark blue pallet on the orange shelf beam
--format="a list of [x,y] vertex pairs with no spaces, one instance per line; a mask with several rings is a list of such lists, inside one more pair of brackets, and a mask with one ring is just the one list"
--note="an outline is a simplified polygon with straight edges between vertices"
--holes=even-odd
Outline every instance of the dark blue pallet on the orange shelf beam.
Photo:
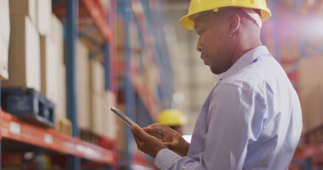
[[55,127],[55,105],[34,89],[1,88],[1,106],[37,126]]

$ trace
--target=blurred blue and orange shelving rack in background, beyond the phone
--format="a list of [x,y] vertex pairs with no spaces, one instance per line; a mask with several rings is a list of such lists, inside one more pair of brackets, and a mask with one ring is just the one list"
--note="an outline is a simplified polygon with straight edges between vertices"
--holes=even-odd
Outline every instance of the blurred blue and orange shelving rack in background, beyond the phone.
[[[154,123],[160,110],[171,108],[172,103],[172,68],[163,27],[165,21],[162,5],[163,1],[159,0],[117,0],[117,15],[121,16],[117,18],[124,22],[124,30],[118,31],[124,33],[125,42],[123,47],[125,64],[120,65],[125,65],[126,68],[125,77],[119,77],[125,83],[118,90],[123,90],[125,93],[126,114],[143,127]],[[161,72],[161,83],[157,87],[158,96],[156,98],[147,90],[147,85],[139,78],[139,73],[134,71],[142,69],[135,68],[131,63],[133,49],[130,45],[129,28],[130,23],[133,22],[136,25],[134,29],[138,30],[137,43],[140,50],[145,50],[148,53],[152,64],[157,66]],[[131,153],[134,141],[130,128],[126,129],[126,135],[127,155],[125,162],[127,168],[130,169],[130,165],[134,161],[133,154],[136,155],[136,153]]]

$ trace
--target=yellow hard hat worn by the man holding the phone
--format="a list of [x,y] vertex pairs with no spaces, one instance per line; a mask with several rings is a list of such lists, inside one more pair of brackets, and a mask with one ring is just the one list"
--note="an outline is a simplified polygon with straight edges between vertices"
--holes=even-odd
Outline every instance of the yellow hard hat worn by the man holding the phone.
[[270,10],[266,5],[266,0],[191,0],[188,14],[181,18],[181,24],[188,30],[194,30],[193,14],[208,10],[217,12],[219,8],[231,6],[260,9],[262,22],[267,21],[271,16]]

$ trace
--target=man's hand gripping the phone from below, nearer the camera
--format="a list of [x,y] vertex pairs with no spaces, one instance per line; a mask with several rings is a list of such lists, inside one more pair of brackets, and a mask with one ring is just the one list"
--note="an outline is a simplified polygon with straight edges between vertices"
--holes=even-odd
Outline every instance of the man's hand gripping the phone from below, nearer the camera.
[[161,141],[146,134],[145,131],[136,124],[132,125],[131,132],[135,138],[138,149],[152,157],[156,157],[161,149],[167,149]]

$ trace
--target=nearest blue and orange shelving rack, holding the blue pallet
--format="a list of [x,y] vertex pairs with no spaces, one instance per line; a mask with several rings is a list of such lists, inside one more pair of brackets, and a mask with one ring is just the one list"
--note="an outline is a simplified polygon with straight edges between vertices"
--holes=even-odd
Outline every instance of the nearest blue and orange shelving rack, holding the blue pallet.
[[[116,165],[117,154],[115,150],[83,141],[79,138],[76,110],[76,82],[75,82],[75,41],[78,36],[84,36],[93,44],[101,48],[90,54],[95,57],[103,53],[102,64],[105,66],[105,89],[116,92],[116,45],[115,23],[116,2],[110,1],[111,10],[106,13],[98,0],[53,0],[53,12],[62,20],[66,31],[67,41],[67,96],[68,118],[72,122],[73,136],[68,136],[54,129],[37,127],[5,111],[0,110],[0,151],[14,152],[37,151],[39,148],[59,152],[67,155],[67,168],[78,170],[81,167],[81,158],[105,165],[112,169]],[[80,12],[80,15],[79,13]],[[78,18],[88,17],[94,22],[78,33]],[[103,42],[96,42],[88,36],[92,31],[99,32],[104,38]],[[112,141],[111,141],[112,142]],[[112,143],[111,145],[114,145]],[[1,164],[0,164],[1,169]]]

